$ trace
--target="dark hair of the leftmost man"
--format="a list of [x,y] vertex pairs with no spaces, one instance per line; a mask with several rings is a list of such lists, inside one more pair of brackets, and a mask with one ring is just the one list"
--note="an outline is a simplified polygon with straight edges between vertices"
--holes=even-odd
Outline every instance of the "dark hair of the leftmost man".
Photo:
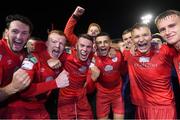
[[6,28],[8,29],[11,22],[13,21],[20,21],[26,25],[29,26],[29,29],[30,29],[30,33],[32,33],[33,31],[33,24],[32,22],[29,20],[29,18],[25,17],[25,16],[22,16],[22,15],[19,15],[19,14],[15,14],[15,15],[8,15],[6,17]]

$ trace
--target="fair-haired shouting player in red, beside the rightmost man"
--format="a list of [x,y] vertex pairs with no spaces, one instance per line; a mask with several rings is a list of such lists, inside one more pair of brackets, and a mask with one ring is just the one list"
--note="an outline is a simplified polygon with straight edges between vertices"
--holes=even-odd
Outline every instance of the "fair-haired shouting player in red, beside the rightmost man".
[[151,31],[147,25],[132,27],[134,54],[125,51],[130,78],[131,99],[136,106],[136,119],[175,119],[176,109],[171,86],[174,49],[151,46]]

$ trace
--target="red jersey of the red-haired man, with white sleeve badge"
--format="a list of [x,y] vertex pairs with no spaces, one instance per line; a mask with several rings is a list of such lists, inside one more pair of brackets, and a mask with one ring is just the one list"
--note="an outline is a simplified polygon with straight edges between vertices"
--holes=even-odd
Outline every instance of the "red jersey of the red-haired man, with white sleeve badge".
[[[60,69],[51,69],[47,60],[50,59],[46,50],[40,53],[32,53],[28,58],[25,58],[22,64],[22,68],[26,70],[29,76],[32,78],[31,85],[22,91],[21,100],[17,101],[14,105],[38,108],[37,104],[42,104],[46,101],[50,91],[57,88],[55,78],[62,71]],[[66,59],[66,53],[64,52],[59,60],[62,65]],[[28,101],[28,102],[27,102]],[[33,103],[33,104],[32,104]]]

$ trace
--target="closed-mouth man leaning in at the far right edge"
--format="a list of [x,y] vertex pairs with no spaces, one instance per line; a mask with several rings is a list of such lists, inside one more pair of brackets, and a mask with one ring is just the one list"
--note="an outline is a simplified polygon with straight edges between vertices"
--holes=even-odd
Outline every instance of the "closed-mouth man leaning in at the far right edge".
[[177,54],[173,61],[180,84],[180,12],[176,10],[167,10],[156,17],[155,23],[164,40],[166,40],[168,44],[173,45],[177,50]]

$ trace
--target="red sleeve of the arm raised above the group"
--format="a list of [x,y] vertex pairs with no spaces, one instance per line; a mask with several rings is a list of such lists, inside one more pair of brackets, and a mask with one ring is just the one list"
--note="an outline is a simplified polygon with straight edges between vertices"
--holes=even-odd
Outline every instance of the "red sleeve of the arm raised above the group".
[[75,46],[78,37],[74,33],[74,28],[75,25],[77,24],[77,19],[75,19],[74,16],[71,16],[66,23],[65,29],[64,29],[64,34],[66,35],[68,41],[72,46]]

